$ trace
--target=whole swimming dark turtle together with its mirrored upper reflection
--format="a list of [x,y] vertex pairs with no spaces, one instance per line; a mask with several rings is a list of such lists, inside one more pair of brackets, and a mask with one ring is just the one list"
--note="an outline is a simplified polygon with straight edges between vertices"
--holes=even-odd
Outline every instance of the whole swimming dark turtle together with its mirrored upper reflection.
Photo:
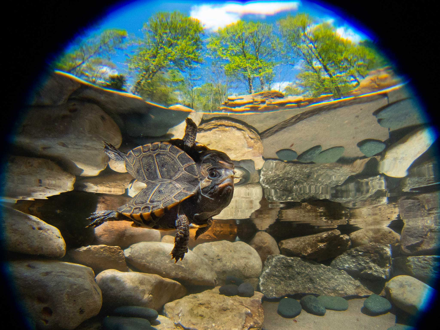
[[128,220],[138,227],[176,229],[171,255],[175,262],[182,260],[188,251],[189,229],[198,228],[195,239],[207,231],[212,217],[231,202],[234,192],[231,159],[196,143],[196,134],[197,125],[187,118],[183,140],[145,144],[127,154],[105,143],[106,154],[125,160],[127,171],[147,187],[116,211],[92,213],[88,227]]

